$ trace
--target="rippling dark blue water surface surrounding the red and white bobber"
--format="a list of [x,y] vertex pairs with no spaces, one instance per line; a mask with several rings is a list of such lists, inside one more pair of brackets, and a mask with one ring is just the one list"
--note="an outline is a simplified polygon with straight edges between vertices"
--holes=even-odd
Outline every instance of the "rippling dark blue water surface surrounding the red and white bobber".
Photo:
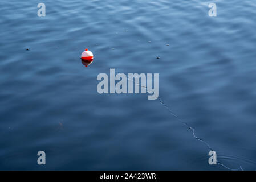
[[211,2],[215,18],[202,0],[43,1],[45,17],[1,1],[0,169],[226,170],[159,100],[97,93],[115,68],[159,73],[159,97],[217,159],[255,170],[256,2]]

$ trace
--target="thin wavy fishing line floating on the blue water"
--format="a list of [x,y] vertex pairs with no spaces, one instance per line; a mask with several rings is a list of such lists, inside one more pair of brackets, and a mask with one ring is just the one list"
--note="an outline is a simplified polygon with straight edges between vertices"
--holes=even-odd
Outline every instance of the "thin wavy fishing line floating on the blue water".
[[[115,71],[115,72],[116,72],[116,73],[120,73],[120,72],[117,72],[117,71]],[[133,82],[133,79],[131,80],[131,79],[129,79],[128,77],[127,77],[127,80],[130,80],[130,81]],[[136,85],[139,85],[141,88],[144,88],[147,93],[149,93],[149,94],[151,94],[151,96],[153,96],[153,94],[148,91],[147,86],[142,86],[142,85],[140,85],[140,83],[135,82],[135,81],[134,81],[134,83],[135,83]],[[153,96],[153,97],[155,97],[155,96]],[[194,130],[193,127],[191,127],[188,123],[184,122],[184,121],[183,121],[182,119],[180,119],[176,114],[174,114],[174,112],[170,109],[170,107],[165,104],[164,100],[162,100],[160,97],[158,97],[158,98],[155,97],[155,98],[156,98],[157,100],[159,100],[160,104],[161,104],[162,106],[164,106],[165,109],[167,109],[167,110],[169,111],[169,113],[172,114],[172,116],[173,116],[174,118],[176,118],[176,121],[178,121],[178,122],[182,123],[183,125],[185,125],[189,130],[192,130],[193,137],[194,137],[196,140],[198,140],[198,141],[204,143],[205,146],[208,148],[209,151],[214,151],[214,150],[212,149],[212,147],[210,147],[210,145],[209,145],[207,142],[205,142],[205,140],[203,140],[203,139],[201,139],[201,138],[199,138],[199,137],[196,136],[195,130]],[[217,163],[218,165],[220,165],[221,167],[224,167],[224,168],[226,168],[226,169],[229,169],[230,171],[243,171],[243,168],[242,168],[241,165],[240,165],[239,168],[237,168],[237,169],[232,169],[232,168],[230,168],[230,167],[227,167],[225,164],[221,163],[221,162],[218,161],[218,160],[216,161],[216,163]]]

